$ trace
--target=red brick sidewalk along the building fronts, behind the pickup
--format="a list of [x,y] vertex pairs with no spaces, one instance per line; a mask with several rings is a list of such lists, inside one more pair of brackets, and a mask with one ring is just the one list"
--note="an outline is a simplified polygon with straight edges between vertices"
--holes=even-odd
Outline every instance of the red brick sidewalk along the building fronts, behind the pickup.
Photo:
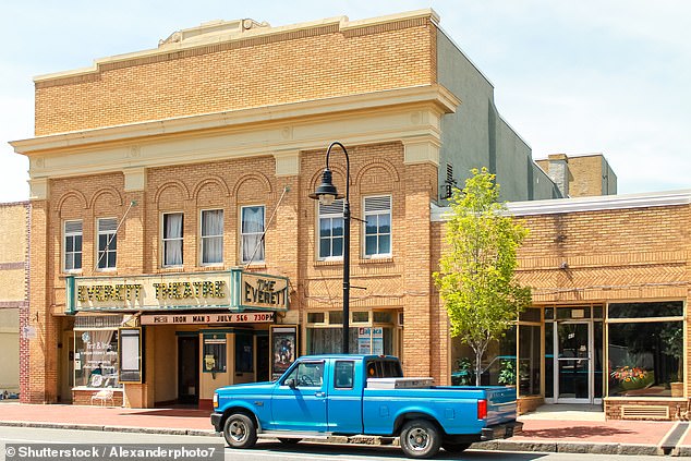
[[[521,416],[523,432],[508,440],[473,448],[511,451],[590,452],[607,454],[691,456],[688,423],[604,421],[597,412],[553,412],[549,408]],[[0,403],[1,426],[60,427],[215,436],[209,411],[193,409],[122,409],[113,407]],[[676,429],[676,430],[675,430]],[[665,444],[671,433],[677,440]],[[670,441],[670,440],[668,440]],[[663,447],[665,445],[665,447]]]

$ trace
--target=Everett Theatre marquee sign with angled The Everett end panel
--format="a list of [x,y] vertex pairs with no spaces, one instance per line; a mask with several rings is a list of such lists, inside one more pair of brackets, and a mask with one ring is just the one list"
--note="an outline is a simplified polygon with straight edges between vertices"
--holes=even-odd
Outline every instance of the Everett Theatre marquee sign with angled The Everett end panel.
[[134,277],[66,277],[66,313],[245,308],[286,311],[288,278],[242,269]]

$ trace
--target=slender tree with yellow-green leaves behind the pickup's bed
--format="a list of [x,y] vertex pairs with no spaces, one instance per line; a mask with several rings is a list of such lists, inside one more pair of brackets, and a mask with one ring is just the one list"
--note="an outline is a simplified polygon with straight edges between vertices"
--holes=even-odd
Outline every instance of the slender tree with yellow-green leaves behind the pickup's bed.
[[451,337],[460,338],[475,353],[475,384],[480,386],[487,347],[530,305],[531,291],[514,278],[517,251],[528,229],[498,203],[495,174],[486,168],[471,172],[465,187],[456,189],[450,199],[447,248],[433,277],[449,315]]

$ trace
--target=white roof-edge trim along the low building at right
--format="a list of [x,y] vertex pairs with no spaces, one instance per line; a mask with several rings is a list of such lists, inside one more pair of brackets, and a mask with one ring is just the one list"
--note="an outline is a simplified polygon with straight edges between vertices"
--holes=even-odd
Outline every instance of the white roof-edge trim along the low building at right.
[[[507,208],[513,216],[556,215],[563,213],[601,211],[611,209],[682,206],[691,204],[691,190],[653,192],[595,197],[555,198],[547,201],[509,202]],[[431,204],[433,222],[448,220],[451,208]]]

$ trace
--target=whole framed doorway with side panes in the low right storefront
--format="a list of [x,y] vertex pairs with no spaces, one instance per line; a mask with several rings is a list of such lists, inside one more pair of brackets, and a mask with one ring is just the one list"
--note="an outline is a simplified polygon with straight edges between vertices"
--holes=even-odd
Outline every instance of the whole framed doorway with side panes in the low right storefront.
[[[554,328],[554,403],[602,403],[602,324],[592,320],[546,324]],[[598,338],[595,338],[598,337]],[[599,343],[597,343],[597,340]]]

